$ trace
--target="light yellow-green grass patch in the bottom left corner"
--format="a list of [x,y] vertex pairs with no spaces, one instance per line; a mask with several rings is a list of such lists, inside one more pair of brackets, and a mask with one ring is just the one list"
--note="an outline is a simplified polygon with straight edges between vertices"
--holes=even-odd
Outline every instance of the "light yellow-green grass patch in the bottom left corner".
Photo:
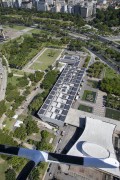
[[5,180],[5,171],[7,170],[8,165],[7,165],[6,161],[2,162],[2,159],[0,159],[0,161],[1,161],[1,163],[0,163],[0,179]]

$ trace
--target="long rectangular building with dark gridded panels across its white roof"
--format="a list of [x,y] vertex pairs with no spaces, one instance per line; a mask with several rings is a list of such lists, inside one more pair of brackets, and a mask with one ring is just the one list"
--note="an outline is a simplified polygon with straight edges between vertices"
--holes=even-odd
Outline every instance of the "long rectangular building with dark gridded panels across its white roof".
[[79,61],[67,64],[57,82],[38,111],[43,121],[63,126],[66,115],[78,93],[85,69],[79,68]]

